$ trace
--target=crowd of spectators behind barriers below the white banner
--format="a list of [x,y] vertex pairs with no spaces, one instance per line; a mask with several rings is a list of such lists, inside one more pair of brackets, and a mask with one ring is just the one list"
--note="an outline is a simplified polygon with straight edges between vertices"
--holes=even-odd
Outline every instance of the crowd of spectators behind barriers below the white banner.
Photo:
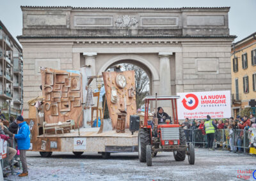
[[[236,119],[211,119],[207,115],[206,120],[190,120],[188,118],[181,124],[186,133],[187,141],[194,141],[198,147],[207,147],[215,150],[221,144],[228,145],[230,152],[242,153],[244,131],[250,127],[256,127],[255,115],[250,117],[237,116]],[[221,131],[225,131],[224,138]],[[223,143],[220,143],[223,141]],[[219,143],[219,145],[215,144]]]

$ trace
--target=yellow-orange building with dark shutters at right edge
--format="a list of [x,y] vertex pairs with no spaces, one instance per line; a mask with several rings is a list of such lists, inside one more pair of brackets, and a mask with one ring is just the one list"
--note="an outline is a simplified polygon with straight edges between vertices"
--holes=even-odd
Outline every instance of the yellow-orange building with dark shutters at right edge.
[[256,99],[256,33],[232,46],[232,110],[234,116]]

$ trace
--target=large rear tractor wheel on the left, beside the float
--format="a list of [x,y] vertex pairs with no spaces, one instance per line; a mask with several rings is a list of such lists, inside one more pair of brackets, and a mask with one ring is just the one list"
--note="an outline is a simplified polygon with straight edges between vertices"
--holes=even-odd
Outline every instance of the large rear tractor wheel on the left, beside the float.
[[[148,129],[141,128],[138,134],[138,154],[140,162],[146,162],[146,146],[150,144]],[[151,153],[150,153],[151,154]]]

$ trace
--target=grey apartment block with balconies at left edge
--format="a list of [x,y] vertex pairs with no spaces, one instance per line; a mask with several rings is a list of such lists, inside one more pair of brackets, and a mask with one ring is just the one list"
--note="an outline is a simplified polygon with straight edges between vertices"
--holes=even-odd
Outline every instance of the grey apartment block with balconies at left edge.
[[10,113],[13,115],[21,113],[22,69],[22,48],[0,21],[0,105],[2,112],[9,113],[10,108]]

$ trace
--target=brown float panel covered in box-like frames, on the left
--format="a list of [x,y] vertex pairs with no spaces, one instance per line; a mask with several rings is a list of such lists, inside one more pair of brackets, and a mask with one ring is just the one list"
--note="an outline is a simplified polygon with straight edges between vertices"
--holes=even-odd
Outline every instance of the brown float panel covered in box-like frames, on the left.
[[[42,68],[44,115],[47,124],[77,120],[82,110],[81,75],[51,68]],[[73,82],[72,82],[73,81]],[[79,127],[83,119],[79,120]],[[77,122],[75,127],[77,127]]]

